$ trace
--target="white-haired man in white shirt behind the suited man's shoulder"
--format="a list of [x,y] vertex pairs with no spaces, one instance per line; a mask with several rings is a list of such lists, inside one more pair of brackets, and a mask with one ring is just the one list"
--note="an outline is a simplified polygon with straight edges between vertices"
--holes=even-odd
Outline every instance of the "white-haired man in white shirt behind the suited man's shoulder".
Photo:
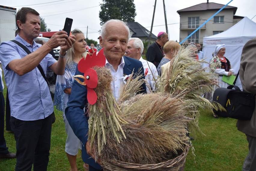
[[[142,62],[144,72],[145,72],[145,78],[148,84],[150,85],[151,90],[155,91],[156,90],[155,80],[157,79],[157,76],[158,76],[157,68],[153,63],[146,61],[141,57],[143,49],[144,49],[143,43],[139,38],[130,38],[125,51],[126,56],[137,59]],[[147,92],[150,92],[148,87],[147,87]]]

